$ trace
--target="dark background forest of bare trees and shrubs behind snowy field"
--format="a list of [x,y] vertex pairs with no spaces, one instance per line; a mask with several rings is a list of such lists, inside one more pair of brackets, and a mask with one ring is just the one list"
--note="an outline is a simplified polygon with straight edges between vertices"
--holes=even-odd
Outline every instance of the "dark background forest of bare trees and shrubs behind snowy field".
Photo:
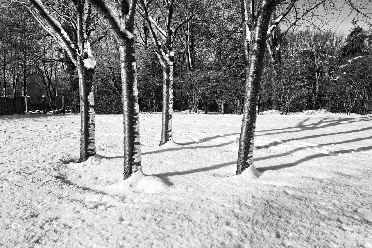
[[[161,2],[148,4],[151,16],[161,25],[165,13]],[[182,8],[194,14],[177,31],[173,44],[174,110],[241,114],[246,62],[239,3],[182,4],[174,12],[175,21],[185,18]],[[59,13],[64,30],[73,37],[73,27]],[[97,61],[93,74],[96,113],[121,113],[118,44],[100,15],[93,9],[91,13],[88,35]],[[140,13],[136,15],[140,110],[161,112],[163,71],[147,24]],[[79,112],[78,75],[65,51],[22,5],[0,8],[0,17],[0,95],[30,96],[29,110],[41,109],[43,95],[49,110],[60,109],[64,96],[67,108]],[[281,24],[267,42],[275,49],[266,51],[259,111],[289,114],[325,108],[371,114],[372,30],[358,26],[356,19],[351,26],[349,34],[344,34],[317,28],[315,23]]]

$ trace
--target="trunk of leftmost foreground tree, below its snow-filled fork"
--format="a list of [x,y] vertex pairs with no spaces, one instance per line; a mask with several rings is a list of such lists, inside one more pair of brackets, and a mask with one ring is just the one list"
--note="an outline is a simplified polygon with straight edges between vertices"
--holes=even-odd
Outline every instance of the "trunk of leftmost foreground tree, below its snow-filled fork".
[[77,163],[86,161],[96,154],[94,122],[94,92],[92,87],[94,69],[87,70],[81,61],[77,66],[80,88],[80,158]]

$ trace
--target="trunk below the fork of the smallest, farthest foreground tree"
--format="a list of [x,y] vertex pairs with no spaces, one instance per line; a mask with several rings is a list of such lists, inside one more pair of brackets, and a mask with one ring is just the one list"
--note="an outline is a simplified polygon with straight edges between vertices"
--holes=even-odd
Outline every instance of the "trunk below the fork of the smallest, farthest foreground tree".
[[163,66],[163,113],[161,120],[160,146],[172,140],[173,115],[173,61]]

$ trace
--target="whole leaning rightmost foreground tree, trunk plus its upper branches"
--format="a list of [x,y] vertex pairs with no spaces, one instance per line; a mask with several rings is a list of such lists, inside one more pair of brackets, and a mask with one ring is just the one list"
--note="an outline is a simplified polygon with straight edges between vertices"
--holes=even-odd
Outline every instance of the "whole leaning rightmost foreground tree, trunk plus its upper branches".
[[241,125],[240,142],[238,149],[238,162],[236,174],[241,174],[245,169],[253,166],[253,148],[254,148],[254,134],[256,130],[257,108],[258,108],[258,93],[260,89],[260,81],[262,76],[263,57],[266,47],[266,38],[271,34],[273,29],[279,24],[280,20],[288,14],[293,7],[295,0],[292,0],[285,12],[282,13],[281,18],[277,18],[268,28],[270,17],[276,7],[275,0],[260,0],[257,6],[257,14],[254,12],[254,4],[251,1],[250,14],[253,20],[253,36],[249,51],[249,26],[248,26],[248,11],[246,0],[241,0],[242,5],[242,24],[244,34],[244,48],[249,54],[249,63],[247,61],[246,70],[246,96],[244,99],[243,121]]

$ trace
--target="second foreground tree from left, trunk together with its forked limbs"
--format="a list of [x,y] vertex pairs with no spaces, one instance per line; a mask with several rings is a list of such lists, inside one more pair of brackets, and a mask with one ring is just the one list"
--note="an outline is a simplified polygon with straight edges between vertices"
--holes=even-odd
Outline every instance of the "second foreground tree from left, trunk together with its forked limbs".
[[119,23],[104,0],[89,0],[105,18],[119,44],[124,115],[124,180],[141,169],[140,109],[138,107],[137,72],[134,49],[134,11],[137,0],[119,1]]

